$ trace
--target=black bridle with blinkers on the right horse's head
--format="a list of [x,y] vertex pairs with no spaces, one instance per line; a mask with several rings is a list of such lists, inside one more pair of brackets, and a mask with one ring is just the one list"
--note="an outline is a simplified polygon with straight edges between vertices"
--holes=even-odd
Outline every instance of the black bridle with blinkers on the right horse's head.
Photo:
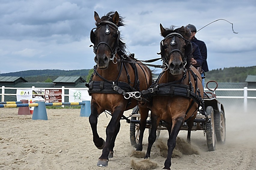
[[[170,42],[170,45],[172,45],[172,46],[176,44],[176,40],[175,40],[176,37],[180,37],[180,38],[182,38],[184,40],[184,42],[187,42],[186,43],[187,45],[184,47],[184,53],[182,53],[178,49],[173,49],[167,56],[165,55],[164,47],[163,47],[163,42],[167,38],[170,38],[170,37],[172,37],[172,40]],[[189,54],[191,54],[191,52],[192,52],[192,44],[191,44],[191,42],[189,40],[185,39],[180,33],[172,32],[172,33],[166,35],[166,37],[164,37],[164,39],[160,42],[160,50],[161,50],[161,52],[158,53],[158,54],[161,54],[161,57],[163,58],[163,65],[165,65],[167,67],[167,69],[169,68],[169,66],[167,64],[168,60],[169,60],[169,57],[171,56],[172,53],[178,52],[178,53],[181,54],[181,57],[182,57],[182,62],[183,62],[183,65],[184,65],[183,71],[184,72],[186,71],[185,66],[187,64],[187,56]],[[167,69],[164,69],[164,70],[167,70]]]

